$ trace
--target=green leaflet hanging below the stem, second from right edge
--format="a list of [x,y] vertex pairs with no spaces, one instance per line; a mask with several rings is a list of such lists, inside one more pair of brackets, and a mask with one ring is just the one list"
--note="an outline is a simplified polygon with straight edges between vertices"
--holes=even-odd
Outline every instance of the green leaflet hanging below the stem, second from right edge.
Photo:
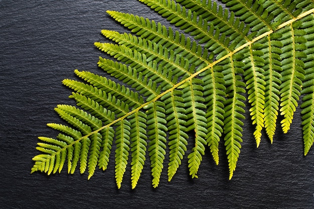
[[301,59],[306,58],[306,54],[303,52],[306,49],[304,44],[306,39],[303,37],[305,31],[297,29],[299,25],[300,22],[294,22],[281,31],[283,48],[280,55],[282,59],[280,114],[284,116],[281,121],[284,133],[290,129],[305,73],[304,63]]

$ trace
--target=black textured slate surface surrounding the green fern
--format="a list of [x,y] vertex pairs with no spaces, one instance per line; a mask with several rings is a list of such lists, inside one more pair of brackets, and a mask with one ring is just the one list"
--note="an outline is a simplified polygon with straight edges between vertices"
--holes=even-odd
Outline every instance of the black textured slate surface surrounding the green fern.
[[231,181],[223,146],[219,166],[207,151],[199,178],[191,179],[185,159],[171,182],[164,169],[156,189],[147,161],[137,187],[128,169],[118,190],[113,155],[108,170],[90,180],[66,169],[31,174],[37,137],[55,137],[46,123],[62,122],[53,108],[74,104],[61,81],[74,79],[74,69],[103,74],[97,61],[106,55],[93,43],[106,41],[101,29],[126,31],[106,10],[160,20],[136,0],[0,1],[0,208],[314,208],[314,150],[303,157],[300,109],[288,134],[278,130],[273,145],[264,137],[258,149],[244,121]]

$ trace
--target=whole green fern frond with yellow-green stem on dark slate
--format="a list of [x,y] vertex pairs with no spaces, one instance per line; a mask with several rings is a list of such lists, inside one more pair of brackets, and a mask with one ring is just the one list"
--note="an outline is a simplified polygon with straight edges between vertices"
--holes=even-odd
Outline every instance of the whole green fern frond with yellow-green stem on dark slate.
[[258,147],[263,129],[272,143],[278,114],[282,131],[289,130],[301,95],[308,153],[314,139],[313,1],[139,1],[180,30],[108,11],[130,33],[102,30],[116,44],[95,46],[115,61],[100,58],[98,65],[123,85],[79,70],[75,74],[81,81],[65,79],[78,107],[56,107],[68,125],[48,124],[61,133],[39,137],[42,153],[33,158],[32,172],[60,172],[67,164],[73,173],[79,165],[90,178],[97,166],[107,168],[115,143],[118,188],[128,163],[136,186],[147,156],[156,187],[167,151],[169,181],[185,155],[190,175],[197,177],[207,146],[219,163],[223,139],[231,179],[241,149],[245,100]]

